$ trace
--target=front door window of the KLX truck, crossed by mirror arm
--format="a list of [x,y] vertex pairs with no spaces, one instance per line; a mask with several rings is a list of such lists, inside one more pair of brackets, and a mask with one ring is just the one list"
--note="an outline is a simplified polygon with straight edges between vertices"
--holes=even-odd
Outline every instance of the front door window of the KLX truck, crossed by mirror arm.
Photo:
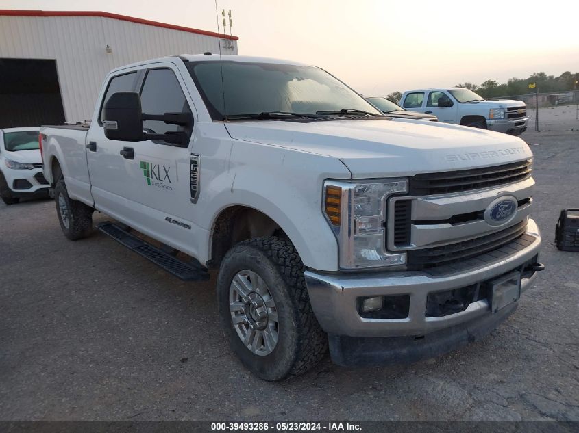
[[[140,105],[145,114],[191,112],[181,85],[171,69],[151,69],[147,72],[140,93]],[[145,120],[143,129],[151,134],[184,130],[176,124],[167,124],[160,120]]]

